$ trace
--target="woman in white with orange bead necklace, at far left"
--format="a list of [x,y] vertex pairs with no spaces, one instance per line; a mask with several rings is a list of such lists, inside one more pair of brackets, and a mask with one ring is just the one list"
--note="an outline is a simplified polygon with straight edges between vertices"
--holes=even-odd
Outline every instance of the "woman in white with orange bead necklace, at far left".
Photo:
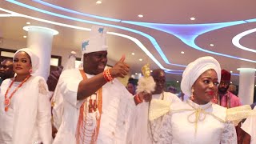
[[50,100],[45,80],[33,76],[39,58],[30,49],[14,54],[14,78],[2,82],[0,94],[0,143],[50,144]]

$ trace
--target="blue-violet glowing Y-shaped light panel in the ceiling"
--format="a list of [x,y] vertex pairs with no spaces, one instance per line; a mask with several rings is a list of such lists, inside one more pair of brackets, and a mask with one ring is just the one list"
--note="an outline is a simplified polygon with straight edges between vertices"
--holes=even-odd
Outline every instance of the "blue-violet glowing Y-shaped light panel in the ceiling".
[[[178,25],[178,24],[161,24],[161,23],[149,23],[149,22],[131,22],[131,21],[122,21],[125,23],[130,23],[138,26],[148,27],[154,30],[161,30],[168,34],[173,34],[177,38],[181,39],[186,45],[200,50],[209,54],[215,54],[227,58],[239,59],[246,62],[254,62],[256,61],[247,59],[247,58],[239,58],[229,54],[222,54],[218,52],[214,52],[211,50],[203,49],[195,44],[195,39],[198,38],[199,35],[206,34],[207,32],[218,30],[227,26],[235,26],[239,24],[246,23],[245,21],[236,21],[236,22],[222,22],[222,23],[207,23],[207,24],[194,24],[194,25]],[[181,33],[180,31],[183,31]]]

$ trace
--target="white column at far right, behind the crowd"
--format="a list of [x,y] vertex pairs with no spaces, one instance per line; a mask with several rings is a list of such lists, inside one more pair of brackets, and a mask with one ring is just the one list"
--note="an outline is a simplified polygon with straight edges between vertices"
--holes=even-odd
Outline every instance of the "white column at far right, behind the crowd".
[[250,105],[254,102],[254,77],[256,69],[238,68],[238,70],[240,71],[238,96],[243,105]]

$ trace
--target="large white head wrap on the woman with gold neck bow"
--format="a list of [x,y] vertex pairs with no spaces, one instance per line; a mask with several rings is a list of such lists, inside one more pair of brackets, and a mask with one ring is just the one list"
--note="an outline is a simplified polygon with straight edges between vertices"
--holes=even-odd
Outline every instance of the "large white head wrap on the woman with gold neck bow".
[[206,70],[214,69],[218,76],[218,82],[221,80],[221,66],[218,61],[213,57],[202,57],[191,62],[182,74],[181,89],[186,95],[191,95],[191,89],[194,82],[200,77]]

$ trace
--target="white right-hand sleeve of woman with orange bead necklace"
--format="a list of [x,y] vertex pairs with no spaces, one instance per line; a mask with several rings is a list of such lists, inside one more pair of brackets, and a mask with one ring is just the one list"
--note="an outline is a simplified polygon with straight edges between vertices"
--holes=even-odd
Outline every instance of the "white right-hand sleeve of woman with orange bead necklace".
[[52,142],[52,126],[50,113],[50,99],[48,97],[48,90],[46,82],[40,79],[38,82],[38,133],[40,139],[44,144],[51,144]]

